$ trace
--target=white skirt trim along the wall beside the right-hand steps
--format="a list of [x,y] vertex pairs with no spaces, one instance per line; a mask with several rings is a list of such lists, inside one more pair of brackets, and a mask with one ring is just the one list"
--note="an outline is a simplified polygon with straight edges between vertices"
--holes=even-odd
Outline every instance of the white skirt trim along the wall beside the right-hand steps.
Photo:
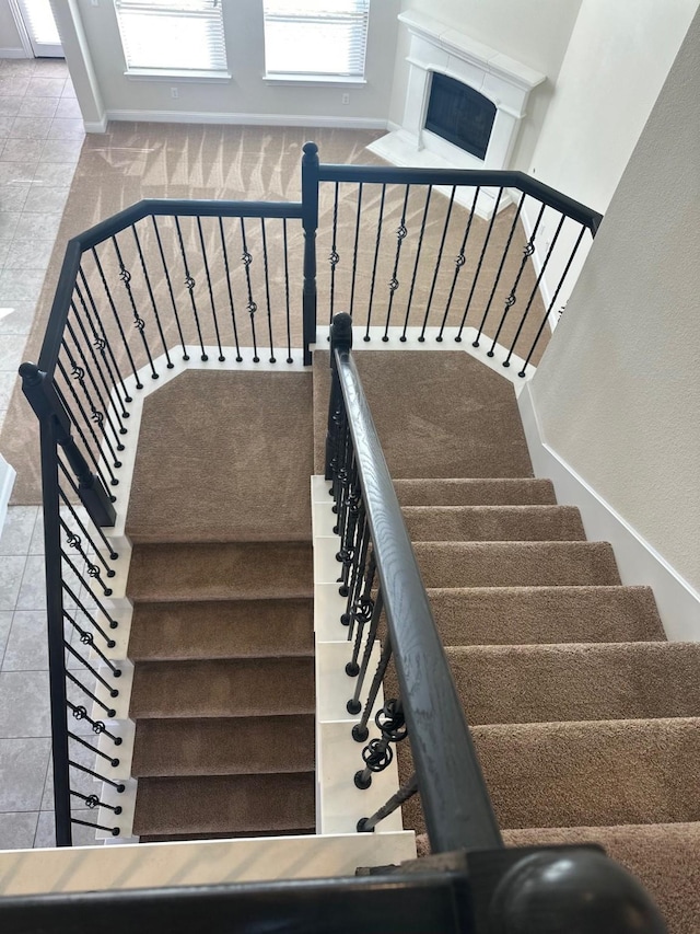
[[546,443],[529,384],[518,406],[535,476],[551,480],[561,505],[579,507],[588,539],[610,542],[622,584],[653,589],[667,638],[700,642],[700,593]]

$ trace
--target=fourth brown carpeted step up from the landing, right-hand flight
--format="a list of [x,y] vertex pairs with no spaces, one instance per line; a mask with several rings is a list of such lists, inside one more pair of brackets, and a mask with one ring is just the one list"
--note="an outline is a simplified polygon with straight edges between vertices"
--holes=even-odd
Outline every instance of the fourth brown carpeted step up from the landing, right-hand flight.
[[650,587],[465,587],[428,591],[444,645],[665,639]]

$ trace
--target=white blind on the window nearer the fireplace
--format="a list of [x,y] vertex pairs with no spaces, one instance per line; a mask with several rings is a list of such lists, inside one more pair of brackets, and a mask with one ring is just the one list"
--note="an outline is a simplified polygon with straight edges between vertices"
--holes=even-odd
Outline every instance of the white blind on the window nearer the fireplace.
[[370,0],[265,0],[269,76],[364,76]]

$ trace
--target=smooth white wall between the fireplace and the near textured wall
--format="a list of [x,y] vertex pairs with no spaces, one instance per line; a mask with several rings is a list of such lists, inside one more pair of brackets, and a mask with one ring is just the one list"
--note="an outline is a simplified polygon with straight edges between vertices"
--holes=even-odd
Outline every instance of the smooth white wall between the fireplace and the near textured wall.
[[583,0],[529,171],[605,214],[698,0]]

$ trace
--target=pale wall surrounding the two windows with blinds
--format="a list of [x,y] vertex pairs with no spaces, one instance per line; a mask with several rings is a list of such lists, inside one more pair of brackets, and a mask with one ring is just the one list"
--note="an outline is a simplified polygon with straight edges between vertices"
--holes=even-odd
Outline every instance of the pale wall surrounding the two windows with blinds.
[[[232,80],[224,83],[125,77],[125,62],[112,0],[77,0],[92,54],[100,93],[110,118],[171,118],[202,115],[218,123],[240,115],[327,117],[331,125],[386,126],[399,0],[372,3],[366,84],[298,87],[264,81],[265,44],[261,0],[225,0],[226,47]],[[173,100],[171,88],[177,85]],[[343,105],[343,93],[350,102]]]

